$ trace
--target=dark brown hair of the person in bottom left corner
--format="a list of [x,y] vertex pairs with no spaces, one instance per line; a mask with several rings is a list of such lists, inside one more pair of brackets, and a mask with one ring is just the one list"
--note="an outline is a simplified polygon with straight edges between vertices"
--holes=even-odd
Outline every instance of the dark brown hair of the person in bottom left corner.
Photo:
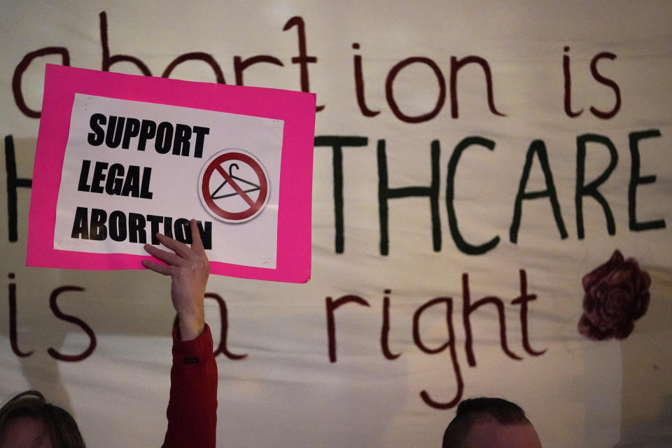
[[86,448],[75,419],[62,407],[46,402],[38,391],[25,391],[10,398],[0,409],[0,447],[9,423],[28,417],[41,422],[42,437],[48,437],[53,448]]

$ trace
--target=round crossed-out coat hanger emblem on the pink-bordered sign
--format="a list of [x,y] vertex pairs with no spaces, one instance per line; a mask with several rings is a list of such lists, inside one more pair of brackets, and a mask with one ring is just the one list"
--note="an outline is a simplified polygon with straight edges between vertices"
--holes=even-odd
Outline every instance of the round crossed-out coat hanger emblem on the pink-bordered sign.
[[225,149],[202,169],[198,194],[203,207],[227,223],[244,223],[264,209],[269,198],[266,169],[252,154]]

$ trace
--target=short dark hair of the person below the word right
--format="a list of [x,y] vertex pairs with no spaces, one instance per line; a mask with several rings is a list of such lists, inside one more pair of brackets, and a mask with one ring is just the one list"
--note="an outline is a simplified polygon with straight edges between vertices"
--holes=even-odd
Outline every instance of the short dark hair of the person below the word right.
[[460,448],[477,421],[495,420],[504,426],[530,425],[525,411],[503,398],[469,398],[457,405],[455,418],[443,433],[443,448]]

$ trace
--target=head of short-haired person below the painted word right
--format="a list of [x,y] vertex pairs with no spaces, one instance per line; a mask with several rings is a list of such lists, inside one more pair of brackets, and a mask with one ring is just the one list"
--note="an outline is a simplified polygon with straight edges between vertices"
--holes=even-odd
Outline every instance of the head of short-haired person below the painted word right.
[[523,409],[503,398],[470,398],[457,406],[443,448],[541,448]]

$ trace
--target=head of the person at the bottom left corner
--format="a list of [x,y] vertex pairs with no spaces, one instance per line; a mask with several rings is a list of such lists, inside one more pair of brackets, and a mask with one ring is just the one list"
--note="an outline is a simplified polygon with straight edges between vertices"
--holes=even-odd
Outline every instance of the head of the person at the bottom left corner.
[[0,448],[85,448],[75,419],[38,391],[15,395],[0,409]]

